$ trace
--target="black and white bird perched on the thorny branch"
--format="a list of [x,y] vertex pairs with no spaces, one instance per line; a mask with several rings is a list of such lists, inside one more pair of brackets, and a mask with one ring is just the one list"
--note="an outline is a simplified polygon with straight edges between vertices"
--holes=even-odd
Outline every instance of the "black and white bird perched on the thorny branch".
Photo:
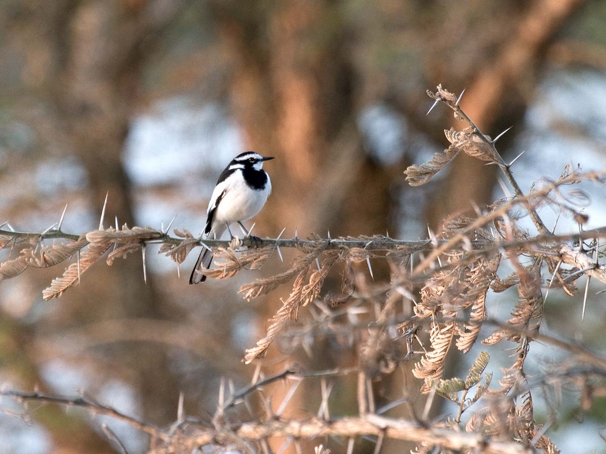
[[[231,160],[219,176],[208,202],[204,238],[220,239],[225,229],[233,238],[229,226],[235,222],[248,233],[242,222],[258,214],[271,193],[271,181],[262,169],[263,162],[270,159],[273,157],[246,151]],[[191,271],[190,284],[206,280],[204,269],[210,268],[212,261],[213,253],[202,249]]]

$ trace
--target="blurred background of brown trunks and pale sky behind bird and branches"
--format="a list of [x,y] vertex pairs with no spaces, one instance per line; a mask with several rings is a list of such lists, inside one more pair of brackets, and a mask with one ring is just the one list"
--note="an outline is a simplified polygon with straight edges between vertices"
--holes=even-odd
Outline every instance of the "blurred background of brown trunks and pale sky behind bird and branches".
[[[4,0],[0,29],[0,222],[22,231],[58,222],[65,203],[64,231],[95,229],[108,192],[106,226],[117,217],[159,228],[177,215],[174,226],[198,235],[218,174],[255,150],[276,157],[265,165],[273,194],[256,235],[425,238],[448,214],[504,195],[496,166],[465,156],[428,185],[405,183],[404,169],[443,150],[444,129],[462,126],[442,107],[425,116],[425,90],[439,83],[466,89],[462,108],[485,133],[513,125],[498,143],[506,160],[526,151],[513,168],[524,191],[570,162],[606,167],[601,0]],[[606,193],[588,189],[588,228],[604,226]],[[548,226],[558,215],[542,214]],[[288,289],[251,303],[237,289],[285,265],[274,257],[261,271],[190,286],[198,252],[179,279],[175,263],[148,249],[147,285],[136,255],[95,265],[50,302],[41,291],[63,265],[2,282],[3,386],[83,390],[165,425],[179,392],[186,412],[204,417],[222,375],[250,381],[244,348]],[[287,262],[294,256],[283,252]],[[515,295],[494,297],[493,313],[507,315]],[[579,301],[553,292],[547,329],[604,350],[598,298],[581,325]],[[562,307],[578,318],[562,320]],[[284,368],[278,347],[267,373]],[[309,367],[347,362],[336,355]],[[541,358],[556,352],[541,350],[538,369]],[[489,367],[498,373],[498,364]],[[287,389],[276,390],[276,404]],[[293,407],[315,413],[317,394]],[[333,413],[355,411],[351,383],[338,395]],[[575,406],[574,396],[564,401],[548,435],[564,452],[606,452],[605,403],[583,424]],[[104,419],[52,406],[30,406],[26,416],[28,424],[0,416],[0,453],[115,452],[99,429]],[[112,427],[129,453],[144,452],[144,435]],[[403,451],[386,442],[381,452]]]

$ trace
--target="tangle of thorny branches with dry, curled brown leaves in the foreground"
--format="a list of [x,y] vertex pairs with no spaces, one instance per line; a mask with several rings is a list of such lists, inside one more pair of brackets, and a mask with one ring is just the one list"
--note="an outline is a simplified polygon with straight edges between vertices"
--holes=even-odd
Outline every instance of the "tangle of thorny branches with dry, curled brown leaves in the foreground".
[[[600,242],[606,237],[606,226],[584,231],[582,225],[587,222],[587,215],[574,208],[574,197],[562,191],[563,186],[582,180],[604,183],[606,172],[582,173],[567,166],[558,179],[542,180],[525,195],[511,173],[515,159],[505,163],[496,149],[495,142],[503,133],[495,139],[482,133],[459,107],[461,97],[457,99],[441,86],[436,93],[428,94],[436,104],[447,104],[458,119],[470,126],[462,131],[445,131],[450,146],[429,162],[410,166],[405,172],[408,182],[427,183],[462,151],[498,165],[514,189],[514,197],[499,200],[484,211],[478,208],[476,217],[456,215],[445,220],[436,234],[430,233],[428,240],[405,241],[382,235],[337,239],[328,235],[326,239],[313,236],[304,240],[296,234],[292,239],[282,239],[280,234],[275,239],[206,240],[184,229],[175,229],[175,236],[170,236],[170,225],[167,229],[118,228],[118,225],[104,229],[103,216],[99,230],[82,235],[61,230],[63,215],[57,225],[40,233],[15,232],[10,225],[8,229],[0,226],[0,246],[11,249],[9,260],[0,265],[0,280],[14,277],[28,267],[53,266],[77,255],[77,263],[68,266],[62,277],[53,280],[44,291],[46,299],[59,297],[75,285],[81,273],[105,254],[111,265],[118,257],[145,251],[147,245],[160,244],[159,253],[177,264],[197,246],[213,248],[217,265],[207,275],[214,278],[230,278],[242,269],[258,269],[274,252],[282,259],[280,248],[295,248],[298,255],[287,271],[258,278],[240,289],[250,300],[273,292],[284,283],[292,284],[290,295],[281,300],[281,306],[269,320],[267,334],[246,350],[245,362],[254,362],[257,367],[253,383],[238,391],[233,390],[232,384],[228,396],[222,386],[211,424],[186,418],[181,406],[179,421],[166,429],[85,398],[18,391],[5,391],[2,395],[80,406],[92,413],[121,419],[150,434],[150,452],[155,454],[191,452],[206,446],[216,452],[267,453],[271,452],[267,439],[273,436],[295,440],[298,446],[299,439],[328,435],[348,438],[348,452],[353,452],[358,436],[376,436],[376,452],[385,437],[416,442],[418,453],[436,449],[465,453],[558,452],[545,435],[547,428],[534,421],[533,393],[536,389],[572,385],[582,391],[582,409],[588,410],[591,398],[599,390],[606,390],[602,384],[606,380],[606,358],[579,343],[541,332],[547,297],[543,292],[557,288],[573,295],[576,281],[583,276],[606,283],[606,269],[600,262],[606,254],[606,242]],[[579,232],[555,235],[545,228],[539,210],[547,205],[571,215],[579,223]],[[520,206],[528,212],[539,234],[530,235],[518,226],[519,215],[514,208]],[[64,242],[53,241],[48,246],[45,240]],[[18,249],[18,256],[10,260],[13,249]],[[145,254],[143,257],[145,261]],[[367,266],[372,280],[375,279],[371,259],[385,260],[390,265],[388,280],[378,278],[368,283],[360,278],[362,267]],[[503,262],[513,269],[507,277],[499,276]],[[327,278],[336,274],[333,272],[336,268],[342,269],[341,289],[335,292],[333,285],[325,285],[325,281],[330,282]],[[491,316],[490,295],[510,288],[517,289],[511,318],[496,320]],[[584,307],[587,289],[588,281]],[[302,316],[303,322],[295,324],[305,306],[310,309]],[[492,326],[494,331],[482,339],[485,335],[481,330],[486,326]],[[287,347],[289,352],[301,347],[311,355],[311,346],[322,337],[330,337],[342,349],[350,349],[355,361],[326,370],[290,366],[268,377],[260,373],[264,365],[262,357],[274,343]],[[487,352],[478,355],[465,380],[444,377],[445,361],[452,350],[467,354],[480,343],[494,346],[505,340],[514,343],[514,362],[502,370],[496,387],[491,381],[494,372],[487,369],[490,360]],[[524,363],[532,341],[570,353],[570,365],[560,367],[548,378],[528,380]],[[411,420],[386,418],[381,416],[383,410],[375,409],[372,382],[398,367],[412,369],[413,375],[421,379],[421,392],[429,395],[420,419],[407,395],[384,407],[407,403]],[[331,387],[326,381],[354,373],[358,375],[358,415],[331,419],[328,416]],[[263,416],[250,421],[240,415],[239,404],[248,409],[247,398],[251,394],[264,393],[266,387],[276,386],[279,381],[313,377],[318,377],[322,385],[317,417],[282,418],[282,410],[296,387],[291,387],[277,412],[265,402]],[[428,410],[435,396],[456,404],[454,418],[428,421]],[[479,400],[483,406],[472,408]]]

